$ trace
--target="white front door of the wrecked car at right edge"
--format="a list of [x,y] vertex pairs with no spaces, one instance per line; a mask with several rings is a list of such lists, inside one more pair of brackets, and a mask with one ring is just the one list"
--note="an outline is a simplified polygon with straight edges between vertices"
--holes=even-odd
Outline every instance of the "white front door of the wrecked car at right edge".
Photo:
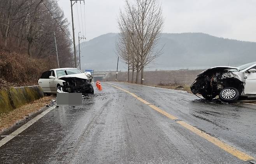
[[[253,67],[253,69],[256,69],[256,67]],[[244,93],[256,94],[256,73],[245,73],[245,77]]]

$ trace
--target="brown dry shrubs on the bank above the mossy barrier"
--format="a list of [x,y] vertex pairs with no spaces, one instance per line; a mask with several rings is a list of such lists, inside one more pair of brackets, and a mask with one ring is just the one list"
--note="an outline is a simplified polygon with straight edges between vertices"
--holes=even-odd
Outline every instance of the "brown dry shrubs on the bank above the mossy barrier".
[[56,67],[51,63],[50,59],[32,59],[26,54],[0,52],[0,89],[38,85],[40,75]]

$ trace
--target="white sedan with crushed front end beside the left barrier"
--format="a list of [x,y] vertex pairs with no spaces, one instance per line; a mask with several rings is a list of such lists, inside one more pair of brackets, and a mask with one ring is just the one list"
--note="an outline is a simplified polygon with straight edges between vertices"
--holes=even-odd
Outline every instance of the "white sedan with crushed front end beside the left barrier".
[[83,93],[94,94],[91,73],[83,73],[78,68],[51,69],[38,80],[45,94]]

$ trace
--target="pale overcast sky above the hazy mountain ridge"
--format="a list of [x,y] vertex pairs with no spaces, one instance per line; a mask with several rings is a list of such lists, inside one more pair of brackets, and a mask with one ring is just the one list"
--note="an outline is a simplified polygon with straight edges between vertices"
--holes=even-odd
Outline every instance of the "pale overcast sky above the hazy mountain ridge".
[[[160,0],[164,33],[202,32],[243,41],[256,41],[256,0]],[[70,0],[59,0],[72,30]],[[86,0],[86,38],[118,33],[117,16],[124,0]],[[77,16],[77,9],[79,15]],[[84,3],[73,6],[75,37],[84,24]],[[81,16],[82,11],[82,16]],[[78,21],[79,18],[79,21]],[[80,30],[79,30],[80,24]],[[72,34],[72,33],[71,33]]]

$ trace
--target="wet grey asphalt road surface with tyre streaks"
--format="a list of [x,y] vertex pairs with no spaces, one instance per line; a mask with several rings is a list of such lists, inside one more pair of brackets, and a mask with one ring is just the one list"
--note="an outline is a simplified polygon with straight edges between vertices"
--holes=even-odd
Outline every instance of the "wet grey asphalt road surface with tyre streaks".
[[256,106],[205,103],[183,91],[109,82],[82,106],[53,109],[0,147],[0,163],[249,163],[109,84],[256,157]]

